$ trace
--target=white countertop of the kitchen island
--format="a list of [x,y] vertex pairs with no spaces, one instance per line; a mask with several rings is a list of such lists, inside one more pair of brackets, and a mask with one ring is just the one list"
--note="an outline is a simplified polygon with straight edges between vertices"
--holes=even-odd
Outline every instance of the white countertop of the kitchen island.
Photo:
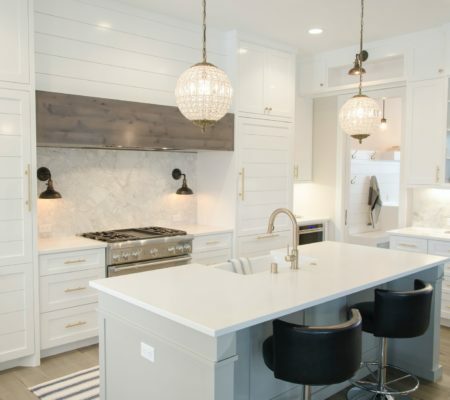
[[317,266],[239,275],[190,264],[91,286],[209,336],[220,336],[401,278],[446,258],[320,242],[299,248]]

